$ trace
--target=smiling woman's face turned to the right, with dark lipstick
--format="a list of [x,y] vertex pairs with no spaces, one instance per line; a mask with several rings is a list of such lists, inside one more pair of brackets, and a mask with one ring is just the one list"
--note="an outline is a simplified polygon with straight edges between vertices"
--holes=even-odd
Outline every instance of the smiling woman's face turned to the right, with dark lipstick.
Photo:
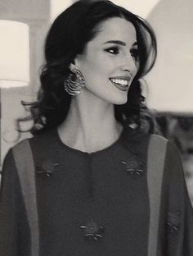
[[87,91],[109,103],[126,103],[139,66],[132,23],[119,17],[103,21],[75,64],[83,74]]

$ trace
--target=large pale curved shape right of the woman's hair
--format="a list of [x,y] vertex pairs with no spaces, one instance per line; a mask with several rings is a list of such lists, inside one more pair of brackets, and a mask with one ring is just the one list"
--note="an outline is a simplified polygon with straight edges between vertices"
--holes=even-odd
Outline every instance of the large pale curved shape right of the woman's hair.
[[148,20],[158,40],[157,62],[146,77],[149,107],[193,113],[193,1],[161,0]]

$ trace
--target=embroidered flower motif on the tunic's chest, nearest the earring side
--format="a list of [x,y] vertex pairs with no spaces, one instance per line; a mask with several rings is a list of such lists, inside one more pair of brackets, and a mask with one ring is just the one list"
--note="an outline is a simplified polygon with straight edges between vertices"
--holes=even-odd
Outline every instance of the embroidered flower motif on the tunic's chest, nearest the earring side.
[[52,176],[52,173],[55,171],[55,167],[59,167],[58,162],[52,162],[52,160],[47,159],[42,163],[36,165],[36,173],[43,176]]

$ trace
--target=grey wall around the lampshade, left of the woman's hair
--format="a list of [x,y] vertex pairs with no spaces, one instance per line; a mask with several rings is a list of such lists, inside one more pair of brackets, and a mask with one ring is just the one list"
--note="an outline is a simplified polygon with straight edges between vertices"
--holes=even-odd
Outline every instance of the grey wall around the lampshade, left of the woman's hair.
[[[39,87],[39,68],[43,64],[43,42],[50,25],[50,3],[47,0],[0,0],[0,20],[20,21],[29,25],[29,85],[21,88],[1,89],[1,160],[7,150],[16,144],[18,132],[15,121],[28,113],[20,100],[34,101]],[[3,34],[0,35],[3,37]],[[14,43],[14,40],[12,41]],[[7,43],[7,45],[10,45]],[[9,49],[8,49],[9,50]],[[27,63],[26,63],[27,64]],[[12,69],[16,69],[14,62]],[[24,133],[20,139],[29,137]]]

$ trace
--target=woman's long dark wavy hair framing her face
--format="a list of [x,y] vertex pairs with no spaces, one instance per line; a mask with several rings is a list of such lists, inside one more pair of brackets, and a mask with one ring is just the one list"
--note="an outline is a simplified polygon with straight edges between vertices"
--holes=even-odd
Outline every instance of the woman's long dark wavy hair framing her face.
[[64,89],[70,74],[70,63],[83,53],[86,44],[97,33],[97,26],[111,17],[122,17],[134,25],[137,32],[140,66],[128,91],[128,102],[115,105],[115,118],[122,124],[140,125],[143,110],[140,79],[155,63],[156,39],[150,25],[141,17],[106,0],[75,2],[53,22],[45,43],[45,61],[40,75],[41,89],[38,102],[32,107],[35,120],[46,118],[43,130],[59,126],[67,116],[71,97]]

